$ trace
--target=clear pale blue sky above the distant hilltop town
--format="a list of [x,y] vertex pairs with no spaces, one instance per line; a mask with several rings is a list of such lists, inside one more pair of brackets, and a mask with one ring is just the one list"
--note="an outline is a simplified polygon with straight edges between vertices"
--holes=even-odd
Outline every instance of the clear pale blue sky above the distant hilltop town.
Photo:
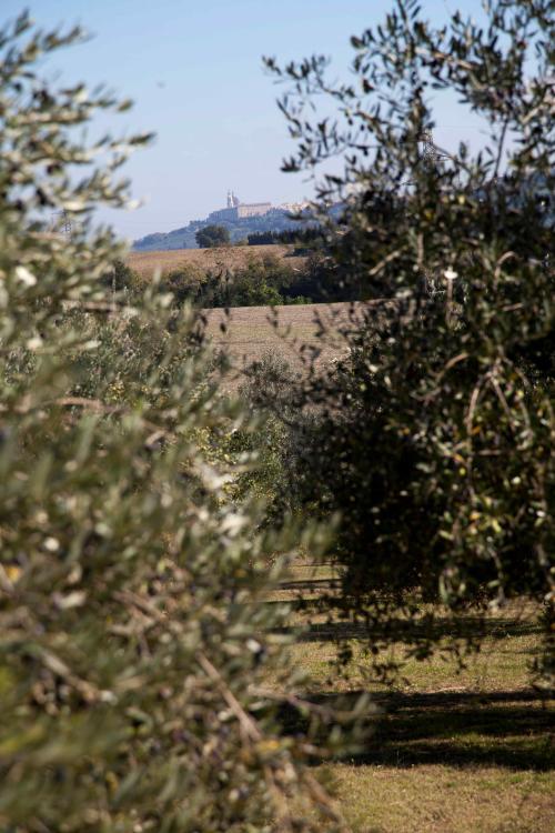
[[[434,22],[478,0],[424,0]],[[41,26],[84,26],[94,38],[59,52],[48,74],[109,82],[134,109],[113,132],[154,130],[155,143],[128,164],[134,212],[110,212],[127,238],[169,231],[224,204],[232,188],[245,202],[310,195],[302,177],[280,172],[292,150],[263,54],[281,61],[329,54],[340,73],[351,34],[377,22],[389,0],[0,0],[0,22],[30,8]],[[437,136],[464,136],[455,108],[437,114]]]

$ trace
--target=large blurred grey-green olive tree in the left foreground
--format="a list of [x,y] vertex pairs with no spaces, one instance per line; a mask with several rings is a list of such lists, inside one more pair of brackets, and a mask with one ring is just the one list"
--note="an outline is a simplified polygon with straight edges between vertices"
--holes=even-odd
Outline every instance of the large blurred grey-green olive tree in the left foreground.
[[214,446],[249,420],[190,311],[105,280],[122,251],[93,212],[127,203],[112,174],[147,137],[83,145],[127,104],[36,67],[80,37],[0,34],[0,827],[339,830],[305,764],[342,730],[320,709],[282,732],[281,702],[309,706],[265,604],[323,533],[260,531],[233,500],[250,456]]

